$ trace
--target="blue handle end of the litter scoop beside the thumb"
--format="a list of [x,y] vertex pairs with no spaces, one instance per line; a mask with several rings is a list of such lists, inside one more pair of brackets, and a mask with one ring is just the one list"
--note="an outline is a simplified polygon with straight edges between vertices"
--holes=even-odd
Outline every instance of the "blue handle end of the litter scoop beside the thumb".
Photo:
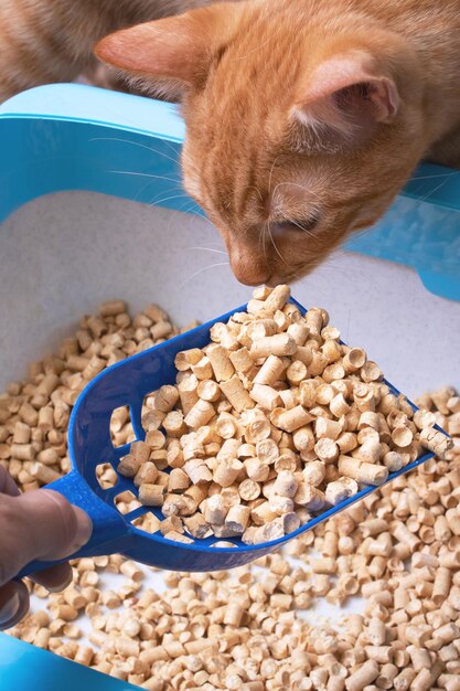
[[99,499],[89,489],[78,472],[72,470],[68,475],[46,485],[43,489],[52,489],[60,492],[67,501],[86,511],[93,523],[92,536],[82,549],[65,559],[51,562],[35,560],[26,564],[18,574],[18,578],[30,576],[54,564],[62,564],[69,559],[99,556],[121,551],[124,538],[129,532],[128,524],[115,508]]

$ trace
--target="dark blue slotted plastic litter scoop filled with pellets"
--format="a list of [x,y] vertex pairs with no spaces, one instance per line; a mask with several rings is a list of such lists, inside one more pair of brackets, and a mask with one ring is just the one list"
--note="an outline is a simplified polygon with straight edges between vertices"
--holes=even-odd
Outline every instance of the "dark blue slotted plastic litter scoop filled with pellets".
[[[296,300],[290,301],[301,310],[302,315],[306,313],[307,310]],[[149,511],[162,519],[160,509],[140,507],[127,514],[118,511],[115,504],[116,496],[126,490],[137,496],[138,488],[130,478],[117,472],[119,459],[128,454],[130,445],[114,447],[110,437],[110,417],[114,410],[128,405],[136,438],[143,439],[146,436],[141,425],[143,398],[164,384],[175,384],[174,358],[176,353],[191,348],[203,348],[211,341],[210,329],[215,322],[226,322],[234,312],[245,309],[246,306],[238,307],[203,326],[107,368],[82,392],[73,410],[68,428],[72,470],[68,475],[46,486],[46,489],[61,492],[73,504],[85,510],[93,521],[93,534],[89,542],[71,559],[121,553],[126,557],[150,566],[172,571],[207,572],[232,568],[277,550],[285,542],[311,530],[378,489],[374,486],[366,486],[350,499],[314,517],[295,532],[271,542],[247,545],[238,538],[226,539],[226,542],[234,544],[233,548],[212,546],[220,541],[214,535],[202,540],[195,539],[193,544],[174,542],[163,538],[160,532],[150,534],[132,524],[133,520]],[[393,393],[396,395],[399,393],[392,384],[385,383]],[[410,405],[417,410],[414,404]],[[427,451],[400,470],[392,472],[387,482],[432,456],[434,454]],[[108,489],[100,487],[96,476],[96,467],[104,463],[111,465],[118,478],[115,487]],[[19,576],[33,574],[54,563],[57,562],[32,562]]]

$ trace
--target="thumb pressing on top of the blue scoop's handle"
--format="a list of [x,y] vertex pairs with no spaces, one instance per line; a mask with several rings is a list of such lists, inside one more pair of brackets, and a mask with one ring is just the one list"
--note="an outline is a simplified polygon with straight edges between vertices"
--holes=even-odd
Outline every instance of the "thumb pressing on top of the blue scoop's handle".
[[53,490],[0,496],[0,585],[33,560],[60,560],[89,540],[88,515]]

